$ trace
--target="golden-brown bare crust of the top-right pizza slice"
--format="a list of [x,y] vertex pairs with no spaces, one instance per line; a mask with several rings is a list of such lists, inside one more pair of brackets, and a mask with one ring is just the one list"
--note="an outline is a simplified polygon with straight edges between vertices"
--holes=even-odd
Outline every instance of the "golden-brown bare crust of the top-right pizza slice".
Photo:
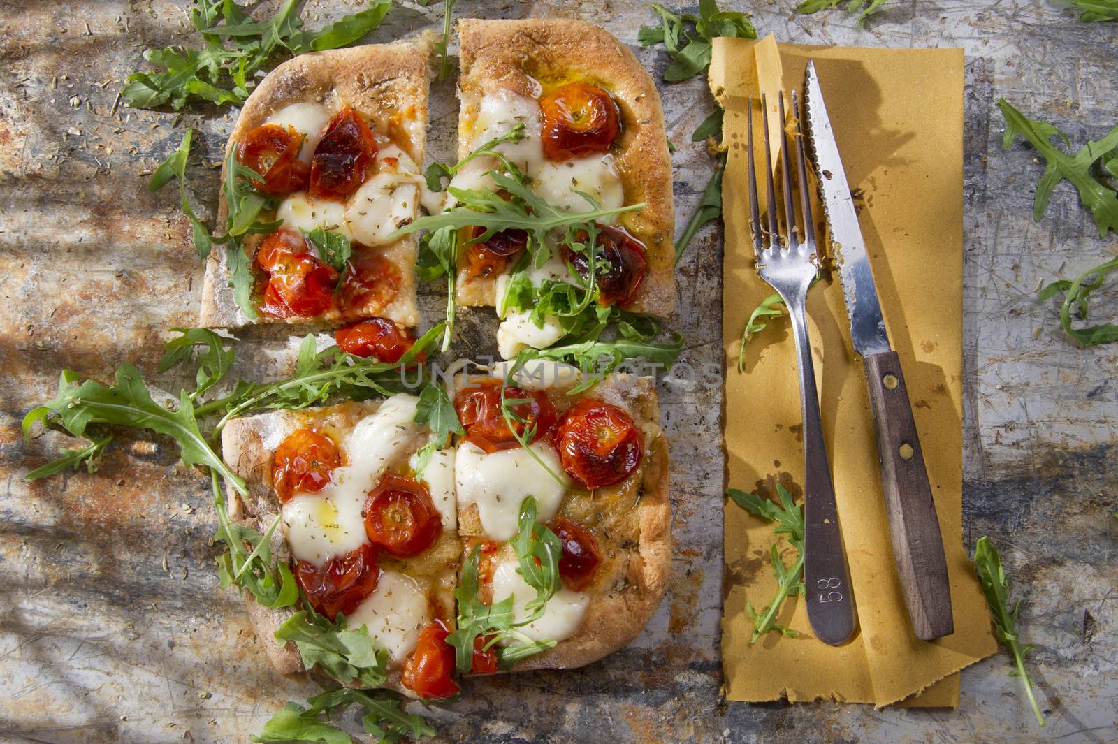
[[[540,82],[586,78],[606,87],[622,112],[622,135],[615,163],[625,188],[625,203],[645,202],[619,222],[647,249],[647,266],[636,298],[626,306],[637,313],[666,316],[675,309],[675,208],[672,161],[667,152],[664,112],[648,71],[628,47],[605,29],[568,18],[463,20],[462,77],[458,84],[458,156],[474,147],[477,102],[509,89],[536,98]],[[459,260],[459,268],[465,259]],[[459,270],[461,305],[493,305],[495,280],[468,278]]]

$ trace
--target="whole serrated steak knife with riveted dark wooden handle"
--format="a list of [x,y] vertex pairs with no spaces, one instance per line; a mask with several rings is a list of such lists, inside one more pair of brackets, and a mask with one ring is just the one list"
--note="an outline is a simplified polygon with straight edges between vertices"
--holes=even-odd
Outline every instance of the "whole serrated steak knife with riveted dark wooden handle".
[[917,638],[949,636],[955,631],[951,589],[928,470],[900,360],[889,343],[881,316],[878,288],[814,61],[807,63],[804,103],[815,172],[823,191],[823,211],[837,250],[850,336],[865,366],[881,485],[904,604]]

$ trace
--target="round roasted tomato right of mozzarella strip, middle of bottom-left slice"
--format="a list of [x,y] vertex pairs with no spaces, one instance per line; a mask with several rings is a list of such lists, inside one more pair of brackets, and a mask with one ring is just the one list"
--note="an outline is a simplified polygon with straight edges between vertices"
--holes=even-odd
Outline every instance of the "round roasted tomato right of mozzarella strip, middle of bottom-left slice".
[[396,557],[414,557],[443,532],[443,518],[427,487],[414,478],[387,474],[364,500],[364,534]]

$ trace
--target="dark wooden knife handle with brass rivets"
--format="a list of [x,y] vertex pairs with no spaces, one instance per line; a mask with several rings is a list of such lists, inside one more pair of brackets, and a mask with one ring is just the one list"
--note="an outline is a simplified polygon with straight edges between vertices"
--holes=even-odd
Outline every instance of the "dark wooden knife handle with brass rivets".
[[897,352],[866,356],[865,382],[878,432],[893,556],[912,630],[922,640],[950,636],[955,621],[944,541]]

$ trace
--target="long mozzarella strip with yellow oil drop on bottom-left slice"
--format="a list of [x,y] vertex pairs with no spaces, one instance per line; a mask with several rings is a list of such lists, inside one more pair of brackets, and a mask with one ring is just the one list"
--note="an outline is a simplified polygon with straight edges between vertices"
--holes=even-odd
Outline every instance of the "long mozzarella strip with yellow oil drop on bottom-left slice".
[[283,505],[287,544],[297,561],[322,565],[366,541],[361,509],[380,476],[411,451],[424,432],[415,423],[414,395],[389,398],[361,419],[342,446],[349,465],[335,468],[316,494],[296,494]]

